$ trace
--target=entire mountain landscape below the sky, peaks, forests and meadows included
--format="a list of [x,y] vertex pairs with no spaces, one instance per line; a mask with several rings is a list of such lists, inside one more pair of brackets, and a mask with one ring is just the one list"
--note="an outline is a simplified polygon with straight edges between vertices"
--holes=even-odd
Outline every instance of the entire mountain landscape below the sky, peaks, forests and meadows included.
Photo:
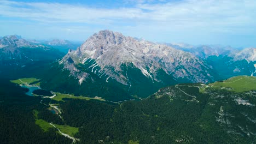
[[0,141],[255,143],[255,76],[255,48],[158,44],[108,30],[77,48],[6,36]]

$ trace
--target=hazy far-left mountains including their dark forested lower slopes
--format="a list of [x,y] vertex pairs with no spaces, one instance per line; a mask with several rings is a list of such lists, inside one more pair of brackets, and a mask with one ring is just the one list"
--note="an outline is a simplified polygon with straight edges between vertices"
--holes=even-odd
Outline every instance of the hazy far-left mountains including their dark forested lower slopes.
[[65,53],[10,35],[0,39],[0,74],[7,79],[39,75]]

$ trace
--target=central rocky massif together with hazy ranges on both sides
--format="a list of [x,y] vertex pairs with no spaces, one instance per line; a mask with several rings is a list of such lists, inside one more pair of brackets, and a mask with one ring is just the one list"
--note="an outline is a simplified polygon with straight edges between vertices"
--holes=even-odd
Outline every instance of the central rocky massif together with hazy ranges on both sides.
[[[16,35],[0,39],[0,47],[2,65],[55,61],[42,77],[45,88],[109,100],[144,98],[176,83],[208,83],[256,71],[254,48],[157,44],[108,30],[77,48],[68,40],[40,44]],[[60,51],[68,52],[63,57]]]

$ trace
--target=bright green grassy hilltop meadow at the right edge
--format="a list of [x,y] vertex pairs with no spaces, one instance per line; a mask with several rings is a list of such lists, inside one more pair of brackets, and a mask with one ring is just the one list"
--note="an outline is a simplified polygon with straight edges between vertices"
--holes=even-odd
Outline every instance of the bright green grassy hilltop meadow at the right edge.
[[235,76],[223,82],[217,81],[209,84],[213,88],[231,88],[230,91],[245,92],[256,89],[256,77]]

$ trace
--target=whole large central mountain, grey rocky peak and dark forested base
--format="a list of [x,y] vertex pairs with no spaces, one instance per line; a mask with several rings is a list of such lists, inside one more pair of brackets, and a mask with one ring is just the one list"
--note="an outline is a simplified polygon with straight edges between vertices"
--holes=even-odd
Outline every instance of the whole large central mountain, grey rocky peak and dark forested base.
[[90,97],[147,97],[176,83],[213,81],[211,71],[189,52],[105,30],[70,50],[53,66],[46,83],[55,83],[50,89]]

